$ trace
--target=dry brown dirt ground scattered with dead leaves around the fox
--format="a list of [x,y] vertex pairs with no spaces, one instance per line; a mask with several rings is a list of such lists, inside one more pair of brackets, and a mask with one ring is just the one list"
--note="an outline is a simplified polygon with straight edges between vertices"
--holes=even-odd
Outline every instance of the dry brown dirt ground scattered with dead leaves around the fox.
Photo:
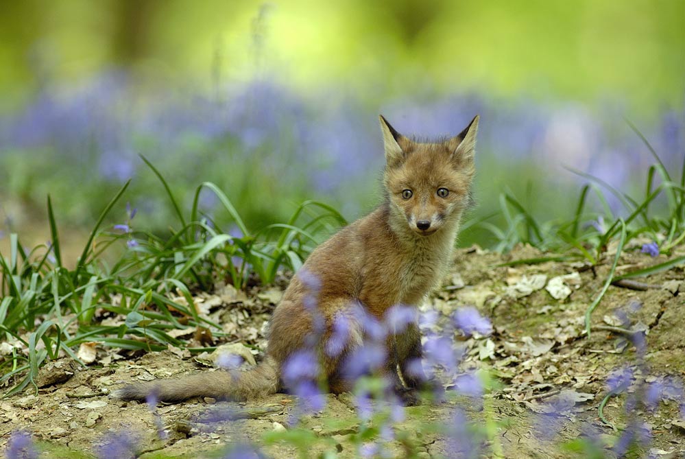
[[[684,253],[681,248],[671,257]],[[450,457],[449,438],[430,426],[448,423],[455,408],[461,407],[476,425],[495,423],[494,441],[491,437],[485,445],[486,457],[503,451],[501,457],[506,458],[581,458],[583,454],[565,451],[560,445],[594,432],[603,445],[610,446],[619,434],[601,421],[598,412],[608,394],[606,381],[614,371],[632,368],[636,380],[647,383],[662,381],[668,375],[675,377],[664,379],[669,384],[677,386],[677,381],[682,381],[685,307],[684,296],[679,294],[685,291],[683,266],[636,279],[642,283],[637,287],[646,290],[610,286],[592,314],[593,331],[588,338],[584,315],[606,279],[611,250],[594,268],[577,261],[501,266],[543,255],[529,247],[518,247],[508,255],[475,247],[459,250],[453,274],[422,309],[435,309],[447,317],[458,307],[474,305],[488,316],[494,326],[492,336],[457,340],[455,345],[466,346],[464,370],[488,370],[498,384],[484,401],[469,401],[448,391],[444,403],[407,408],[405,420],[396,425],[396,430],[406,432],[408,440],[387,445],[392,457],[404,457],[407,444],[419,458]],[[642,254],[635,245],[621,257],[617,274],[666,259],[664,255],[652,258]],[[277,287],[255,287],[247,295],[224,287],[202,296],[199,304],[208,316],[222,323],[229,342],[248,344],[259,351],[265,347],[265,322],[286,282],[284,279]],[[636,347],[625,339],[626,331],[628,335],[647,334],[642,364]],[[194,332],[185,331],[182,338]],[[241,414],[237,417],[242,418],[232,421],[205,422],[215,410],[228,411],[228,403],[212,399],[162,404],[153,414],[145,403],[119,401],[108,394],[128,381],[211,370],[203,356],[191,356],[180,349],[146,354],[114,353],[98,346],[93,349],[97,359],[88,368],[80,368],[67,358],[49,362],[41,370],[38,392],[29,388],[0,401],[0,451],[11,432],[25,429],[40,440],[40,457],[45,458],[93,457],[108,434],[121,431],[135,437],[139,457],[145,459],[221,457],[224,445],[246,440],[261,444],[268,457],[307,457],[292,445],[261,443],[263,434],[290,428],[293,397],[280,394],[230,404],[230,410],[238,410]],[[634,384],[628,395],[609,399],[604,408],[607,421],[619,429],[625,427],[624,404],[630,392],[639,387]],[[642,456],[685,457],[685,423],[678,401],[662,402],[653,412],[638,405],[631,413],[651,430],[651,445]],[[536,427],[540,423],[555,423],[559,433],[551,439],[542,438]],[[359,455],[351,441],[359,432],[351,395],[328,395],[326,408],[306,416],[300,427],[311,433],[308,457],[324,457],[324,451],[337,454],[325,457]]]

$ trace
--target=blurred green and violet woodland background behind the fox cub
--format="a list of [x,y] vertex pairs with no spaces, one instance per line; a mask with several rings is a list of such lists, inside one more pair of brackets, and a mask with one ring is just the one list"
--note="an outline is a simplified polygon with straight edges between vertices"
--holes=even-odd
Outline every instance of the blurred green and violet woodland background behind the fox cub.
[[496,223],[505,189],[568,215],[582,179],[564,166],[644,187],[653,158],[625,119],[682,167],[684,23],[681,0],[4,1],[0,231],[47,237],[51,193],[78,233],[128,178],[136,224],[163,231],[138,154],[186,206],[217,183],[252,227],[307,198],[351,220],[378,199],[378,113],[420,136],[481,114],[473,220]]

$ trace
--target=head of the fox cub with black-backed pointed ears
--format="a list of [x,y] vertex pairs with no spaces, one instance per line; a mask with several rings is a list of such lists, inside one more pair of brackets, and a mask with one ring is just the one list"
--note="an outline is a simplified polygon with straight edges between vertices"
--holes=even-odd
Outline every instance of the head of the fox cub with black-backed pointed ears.
[[455,228],[470,202],[478,117],[459,135],[434,143],[403,136],[383,116],[381,130],[386,162],[383,183],[395,220],[403,217],[422,236],[444,226]]

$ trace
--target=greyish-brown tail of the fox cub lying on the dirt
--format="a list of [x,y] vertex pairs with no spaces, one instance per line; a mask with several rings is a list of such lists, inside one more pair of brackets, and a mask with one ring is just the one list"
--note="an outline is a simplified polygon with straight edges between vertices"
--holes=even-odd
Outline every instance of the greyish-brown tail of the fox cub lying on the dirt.
[[151,396],[158,401],[182,401],[191,397],[243,401],[278,392],[277,368],[276,362],[267,357],[249,370],[205,371],[176,379],[128,384],[112,392],[112,396],[123,400],[145,400]]

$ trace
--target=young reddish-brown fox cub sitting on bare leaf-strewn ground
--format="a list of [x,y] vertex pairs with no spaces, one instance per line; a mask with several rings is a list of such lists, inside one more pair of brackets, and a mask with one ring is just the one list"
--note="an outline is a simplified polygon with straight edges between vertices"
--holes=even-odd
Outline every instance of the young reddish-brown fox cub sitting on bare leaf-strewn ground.
[[[114,397],[144,400],[154,395],[165,402],[265,397],[287,389],[287,362],[302,349],[313,349],[328,392],[352,391],[354,379],[345,362],[364,346],[370,323],[354,311],[382,321],[395,305],[416,310],[440,285],[453,261],[462,215],[472,201],[475,174],[478,115],[455,137],[433,141],[400,134],[383,115],[379,121],[385,150],[381,204],[315,248],[293,275],[269,320],[263,360],[239,372],[205,371],[128,384]],[[317,283],[314,305],[309,301],[311,279]],[[348,319],[346,340],[339,351],[326,352],[340,318]],[[418,403],[418,390],[429,381],[416,365],[422,359],[418,324],[389,333],[385,346],[381,374],[390,390],[407,405]]]

